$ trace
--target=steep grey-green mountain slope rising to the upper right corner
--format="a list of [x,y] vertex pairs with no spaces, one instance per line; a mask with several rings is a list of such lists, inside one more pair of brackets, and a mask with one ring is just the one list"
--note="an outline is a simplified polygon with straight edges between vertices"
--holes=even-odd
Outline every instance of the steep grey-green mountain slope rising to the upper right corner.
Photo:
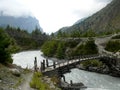
[[86,18],[80,23],[74,24],[66,31],[71,32],[76,30],[83,32],[93,30],[96,33],[120,30],[120,1],[113,0],[99,12]]

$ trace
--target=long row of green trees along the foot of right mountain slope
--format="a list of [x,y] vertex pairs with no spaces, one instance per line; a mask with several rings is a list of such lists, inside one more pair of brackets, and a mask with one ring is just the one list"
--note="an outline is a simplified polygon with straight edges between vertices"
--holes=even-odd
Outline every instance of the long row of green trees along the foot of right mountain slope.
[[120,30],[111,30],[111,31],[104,31],[104,32],[95,32],[92,29],[81,31],[81,30],[72,30],[70,32],[61,31],[59,30],[56,34],[51,34],[52,38],[80,38],[80,37],[99,37],[105,35],[112,35],[115,33],[119,33]]

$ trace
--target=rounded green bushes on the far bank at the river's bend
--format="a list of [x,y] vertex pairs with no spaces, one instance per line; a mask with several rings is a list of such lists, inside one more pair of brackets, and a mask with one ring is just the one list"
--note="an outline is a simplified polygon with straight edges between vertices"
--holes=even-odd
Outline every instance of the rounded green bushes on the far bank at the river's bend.
[[42,52],[48,57],[57,57],[63,59],[65,57],[65,43],[51,40],[44,43]]

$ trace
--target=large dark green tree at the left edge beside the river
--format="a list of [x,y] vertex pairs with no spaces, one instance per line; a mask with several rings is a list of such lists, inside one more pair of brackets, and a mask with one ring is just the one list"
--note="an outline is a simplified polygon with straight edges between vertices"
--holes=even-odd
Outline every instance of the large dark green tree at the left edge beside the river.
[[9,36],[0,28],[0,63],[12,63],[11,48],[9,47],[12,40]]

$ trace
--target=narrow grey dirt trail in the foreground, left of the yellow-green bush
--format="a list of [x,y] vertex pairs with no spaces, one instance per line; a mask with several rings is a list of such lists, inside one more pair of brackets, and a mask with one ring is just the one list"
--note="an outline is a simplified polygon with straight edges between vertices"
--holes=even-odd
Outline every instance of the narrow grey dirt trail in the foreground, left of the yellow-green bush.
[[34,90],[34,89],[30,88],[30,86],[29,86],[29,82],[32,79],[32,75],[33,75],[33,73],[31,72],[24,77],[25,80],[23,81],[22,85],[20,86],[20,90]]

